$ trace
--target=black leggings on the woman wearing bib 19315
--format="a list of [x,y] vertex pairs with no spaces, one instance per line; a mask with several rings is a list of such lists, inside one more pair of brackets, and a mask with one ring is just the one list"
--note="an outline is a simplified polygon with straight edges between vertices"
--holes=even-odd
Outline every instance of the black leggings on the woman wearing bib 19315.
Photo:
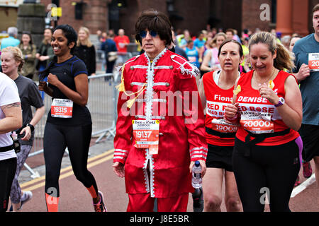
[[45,125],[43,149],[45,157],[45,193],[53,197],[60,197],[59,177],[65,148],[69,149],[69,159],[75,177],[86,188],[94,186],[96,181],[86,168],[91,141],[92,125],[63,126],[47,122]]

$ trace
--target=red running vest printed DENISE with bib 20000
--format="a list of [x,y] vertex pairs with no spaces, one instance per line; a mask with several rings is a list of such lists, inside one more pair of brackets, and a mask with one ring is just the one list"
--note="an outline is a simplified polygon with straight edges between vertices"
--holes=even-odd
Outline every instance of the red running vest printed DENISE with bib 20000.
[[[236,137],[244,142],[248,134],[247,131],[260,134],[289,129],[289,127],[284,124],[284,121],[282,121],[276,107],[266,98],[261,97],[258,90],[252,88],[253,72],[254,71],[250,71],[246,73],[244,76],[241,76],[238,81],[238,85],[241,86],[241,91],[237,95],[236,102],[239,103],[240,129],[238,129]],[[285,97],[284,84],[288,76],[292,75],[285,71],[279,71],[273,80],[273,90],[279,97]],[[265,138],[264,141],[257,143],[257,145],[281,145],[293,141],[298,136],[299,133],[291,129],[290,132],[284,136]]]

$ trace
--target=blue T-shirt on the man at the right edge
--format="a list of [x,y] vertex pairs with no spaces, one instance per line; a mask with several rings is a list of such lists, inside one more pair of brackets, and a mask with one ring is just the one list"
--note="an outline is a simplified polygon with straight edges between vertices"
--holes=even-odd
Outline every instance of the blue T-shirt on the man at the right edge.
[[[319,54],[319,42],[315,40],[315,35],[310,34],[298,40],[293,47],[293,53],[296,57],[296,69],[293,70],[293,73],[296,73],[302,64],[308,65],[310,53]],[[300,83],[303,98],[303,124],[319,125],[318,86],[319,71],[310,71],[310,76]]]

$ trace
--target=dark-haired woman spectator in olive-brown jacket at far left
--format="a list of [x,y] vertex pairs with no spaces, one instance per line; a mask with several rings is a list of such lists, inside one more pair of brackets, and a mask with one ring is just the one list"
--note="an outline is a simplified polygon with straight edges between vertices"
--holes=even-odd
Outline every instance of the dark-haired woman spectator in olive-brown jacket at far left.
[[33,79],[35,73],[35,54],[37,53],[37,47],[33,44],[30,32],[23,32],[21,37],[21,43],[18,45],[23,54],[25,61],[21,74],[27,78]]

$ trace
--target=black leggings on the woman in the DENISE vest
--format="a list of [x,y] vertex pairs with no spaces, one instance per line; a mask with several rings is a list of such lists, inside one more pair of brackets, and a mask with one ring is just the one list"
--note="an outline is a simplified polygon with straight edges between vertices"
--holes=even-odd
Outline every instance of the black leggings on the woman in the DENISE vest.
[[[300,147],[301,146],[301,147]],[[233,169],[244,211],[264,211],[265,195],[269,195],[271,211],[286,212],[301,166],[301,138],[276,146],[247,145],[235,139]]]

